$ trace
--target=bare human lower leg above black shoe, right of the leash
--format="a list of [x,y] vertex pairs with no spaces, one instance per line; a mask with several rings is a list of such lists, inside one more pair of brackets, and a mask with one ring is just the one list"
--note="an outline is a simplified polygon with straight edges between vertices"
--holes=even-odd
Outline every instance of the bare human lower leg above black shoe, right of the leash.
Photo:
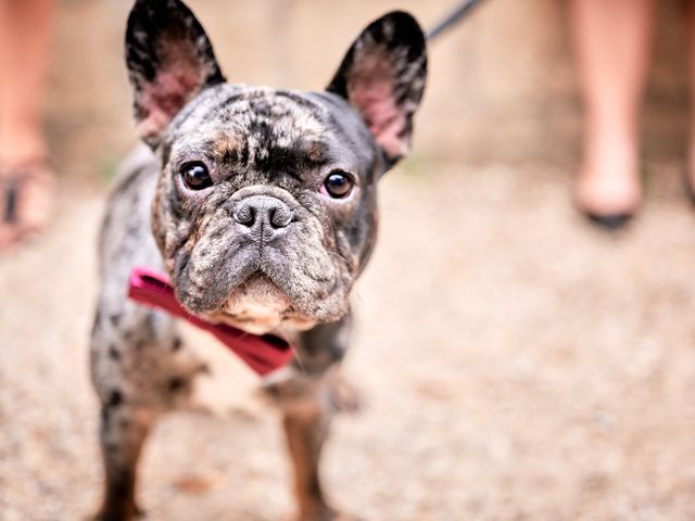
[[639,110],[655,0],[572,0],[571,21],[585,109],[574,198],[597,220],[640,206]]

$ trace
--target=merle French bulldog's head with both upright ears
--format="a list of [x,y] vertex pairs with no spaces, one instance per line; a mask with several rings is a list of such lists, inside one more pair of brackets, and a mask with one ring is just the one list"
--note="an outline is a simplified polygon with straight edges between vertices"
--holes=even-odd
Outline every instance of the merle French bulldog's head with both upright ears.
[[325,91],[298,92],[227,84],[186,5],[137,0],[126,60],[182,305],[254,332],[339,319],[374,245],[376,183],[409,149],[427,67],[417,22],[377,20]]

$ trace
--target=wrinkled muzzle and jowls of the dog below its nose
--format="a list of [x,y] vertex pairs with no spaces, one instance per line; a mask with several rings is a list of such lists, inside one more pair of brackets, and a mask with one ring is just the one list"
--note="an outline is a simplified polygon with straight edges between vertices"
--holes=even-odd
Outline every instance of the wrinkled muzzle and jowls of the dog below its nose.
[[227,228],[205,230],[176,257],[172,278],[190,313],[257,333],[306,330],[348,312],[350,274],[318,231],[260,247]]

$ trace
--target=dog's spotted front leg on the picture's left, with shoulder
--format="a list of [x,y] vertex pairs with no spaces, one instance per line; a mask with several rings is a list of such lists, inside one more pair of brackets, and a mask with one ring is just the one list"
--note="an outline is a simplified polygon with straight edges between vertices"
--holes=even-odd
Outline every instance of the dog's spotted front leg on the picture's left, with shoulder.
[[[119,280],[112,287],[118,285],[126,283]],[[102,294],[91,339],[104,462],[98,521],[140,516],[136,485],[142,445],[159,417],[188,402],[189,382],[199,367],[188,357],[170,317]]]

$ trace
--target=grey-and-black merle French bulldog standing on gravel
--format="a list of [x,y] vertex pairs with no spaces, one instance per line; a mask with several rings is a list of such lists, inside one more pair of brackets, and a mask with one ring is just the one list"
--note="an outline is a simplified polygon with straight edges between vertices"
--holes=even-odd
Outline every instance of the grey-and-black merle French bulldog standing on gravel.
[[189,402],[204,367],[176,319],[127,298],[136,265],[164,270],[191,314],[291,340],[302,364],[270,377],[294,466],[298,519],[340,516],[318,461],[351,288],[372,250],[379,178],[409,149],[425,38],[403,12],[352,45],[317,92],[227,82],[178,0],[138,0],[126,31],[147,151],[118,178],[104,219],[91,370],[101,402],[101,520],[138,516],[136,470],[156,419]]

